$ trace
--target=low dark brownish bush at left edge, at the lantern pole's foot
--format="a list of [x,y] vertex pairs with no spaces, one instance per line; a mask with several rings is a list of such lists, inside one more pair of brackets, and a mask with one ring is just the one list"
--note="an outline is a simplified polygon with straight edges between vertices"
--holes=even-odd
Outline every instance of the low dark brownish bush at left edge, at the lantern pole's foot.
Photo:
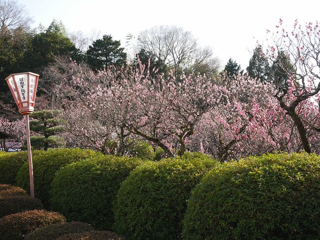
[[39,199],[28,195],[0,197],[0,217],[34,209],[43,209],[43,205]]

